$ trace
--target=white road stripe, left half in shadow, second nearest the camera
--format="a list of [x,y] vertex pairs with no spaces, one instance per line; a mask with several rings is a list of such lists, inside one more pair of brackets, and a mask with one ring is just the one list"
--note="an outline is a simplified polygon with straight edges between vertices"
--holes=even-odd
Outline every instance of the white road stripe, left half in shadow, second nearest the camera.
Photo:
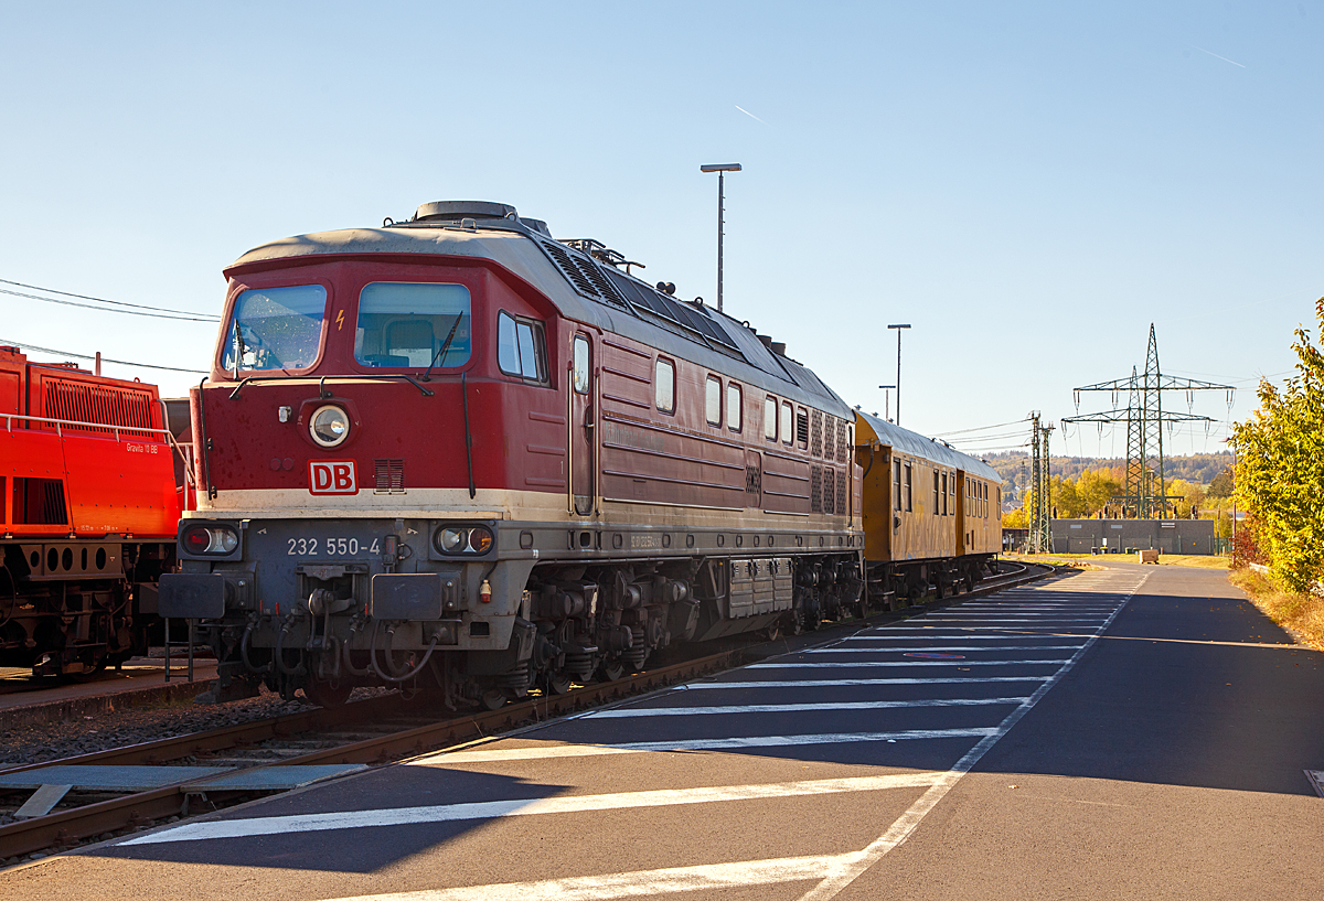
[[257,816],[233,820],[188,823],[173,830],[142,835],[122,841],[131,844],[164,844],[168,841],[201,841],[211,839],[244,839],[256,835],[289,835],[327,830],[380,828],[417,823],[453,823],[486,820],[503,816],[540,816],[545,814],[581,814],[601,810],[637,810],[641,807],[675,807],[711,804],[765,798],[800,798],[805,795],[883,791],[887,789],[928,789],[943,778],[941,773],[899,773],[846,779],[809,779],[804,782],[769,782],[763,785],[715,786],[704,789],[661,789],[655,791],[621,791],[608,795],[561,795],[552,798],[516,798],[481,800],[432,807],[396,807],[388,810],[334,811],[289,816]]

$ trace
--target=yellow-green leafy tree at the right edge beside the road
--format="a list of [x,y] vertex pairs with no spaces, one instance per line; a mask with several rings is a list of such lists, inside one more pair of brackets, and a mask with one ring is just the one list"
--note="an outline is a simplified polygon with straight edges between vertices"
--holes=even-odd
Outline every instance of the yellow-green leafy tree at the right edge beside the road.
[[[1324,332],[1324,298],[1315,303]],[[1324,576],[1324,351],[1296,329],[1298,374],[1259,384],[1259,409],[1235,426],[1237,499],[1270,572],[1292,591]]]

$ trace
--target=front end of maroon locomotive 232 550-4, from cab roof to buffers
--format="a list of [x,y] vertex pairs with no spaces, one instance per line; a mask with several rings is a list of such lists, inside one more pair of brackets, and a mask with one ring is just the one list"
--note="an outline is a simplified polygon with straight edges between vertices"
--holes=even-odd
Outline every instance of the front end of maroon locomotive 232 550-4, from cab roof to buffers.
[[[503,450],[536,441],[531,413],[559,413],[531,392],[549,381],[548,311],[481,246],[384,254],[383,233],[305,236],[226,271],[213,372],[192,392],[199,509],[160,598],[201,624],[217,700],[263,680],[320,704],[357,684],[489,704],[527,687],[510,673],[532,652],[538,552],[516,519],[563,508],[510,490]],[[489,377],[511,355],[520,377]]]

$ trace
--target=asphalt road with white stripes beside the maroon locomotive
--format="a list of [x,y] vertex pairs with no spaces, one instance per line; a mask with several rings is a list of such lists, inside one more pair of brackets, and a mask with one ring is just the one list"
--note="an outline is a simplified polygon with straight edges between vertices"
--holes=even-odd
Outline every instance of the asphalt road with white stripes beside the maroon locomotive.
[[1324,655],[1110,565],[0,873],[7,900],[1319,898]]

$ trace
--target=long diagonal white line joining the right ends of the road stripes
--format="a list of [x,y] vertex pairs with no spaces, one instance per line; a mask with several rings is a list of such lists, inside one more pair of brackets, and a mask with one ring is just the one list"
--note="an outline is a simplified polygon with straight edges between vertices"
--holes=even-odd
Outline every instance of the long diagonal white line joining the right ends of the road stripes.
[[947,793],[952,790],[961,777],[974,769],[974,765],[989,751],[993,745],[996,745],[1002,736],[1012,730],[1012,728],[1021,721],[1021,718],[1029,713],[1035,704],[1038,704],[1049,691],[1062,680],[1062,676],[1068,673],[1071,668],[1076,664],[1086,652],[1094,647],[1099,636],[1108,628],[1117,614],[1127,606],[1127,602],[1135,597],[1136,591],[1148,581],[1149,574],[1145,576],[1135,583],[1135,587],[1121,598],[1117,607],[1108,617],[1108,621],[1099,627],[1098,632],[1091,635],[1084,646],[1071,655],[1071,659],[1062,664],[1062,668],[1053,673],[1042,685],[1039,685],[1035,692],[1018,708],[1012,710],[1005,720],[989,733],[982,741],[980,741],[974,748],[972,748],[965,757],[956,762],[948,773],[944,774],[943,779],[936,782],[932,789],[925,791],[919,800],[911,804],[910,810],[900,815],[900,818],[888,827],[886,832],[878,836],[867,848],[865,848],[859,856],[853,860],[847,868],[825,877],[818,885],[801,896],[800,901],[829,901],[829,898],[837,897],[847,885],[855,881],[863,872],[866,872],[875,863],[882,860],[883,855],[903,843],[915,828],[920,824],[924,816],[928,815],[931,810],[940,802]]

